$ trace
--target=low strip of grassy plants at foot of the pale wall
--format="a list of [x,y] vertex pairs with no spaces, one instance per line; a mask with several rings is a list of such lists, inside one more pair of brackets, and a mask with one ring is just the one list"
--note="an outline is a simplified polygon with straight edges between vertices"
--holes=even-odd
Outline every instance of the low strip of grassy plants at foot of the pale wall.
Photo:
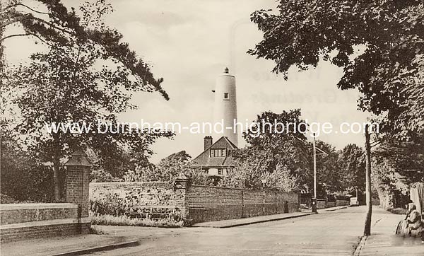
[[175,221],[175,219],[139,219],[130,218],[125,215],[96,215],[92,216],[91,224],[107,226],[153,226],[159,228],[180,228],[183,226],[183,221]]

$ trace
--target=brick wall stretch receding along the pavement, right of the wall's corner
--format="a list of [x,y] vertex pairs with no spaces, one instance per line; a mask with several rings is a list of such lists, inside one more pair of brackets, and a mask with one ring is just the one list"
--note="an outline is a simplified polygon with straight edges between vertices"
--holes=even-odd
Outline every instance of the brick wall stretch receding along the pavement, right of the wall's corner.
[[[298,193],[266,191],[265,214],[299,211]],[[192,223],[240,219],[263,214],[263,191],[190,185],[186,188],[185,210]]]

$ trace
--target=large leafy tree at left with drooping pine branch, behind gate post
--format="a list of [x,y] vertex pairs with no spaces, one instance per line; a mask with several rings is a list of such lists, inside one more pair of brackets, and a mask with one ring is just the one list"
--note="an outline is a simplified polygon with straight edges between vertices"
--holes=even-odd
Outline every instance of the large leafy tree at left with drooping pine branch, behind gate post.
[[[26,136],[25,144],[42,161],[52,163],[54,194],[59,201],[62,164],[75,149],[90,147],[108,168],[127,149],[148,158],[155,139],[172,134],[134,129],[117,120],[117,114],[136,107],[129,103],[134,92],[159,91],[165,99],[168,96],[160,87],[163,79],[155,79],[148,64],[121,41],[122,35],[103,22],[112,6],[103,0],[83,4],[80,17],[60,1],[40,2],[47,13],[20,1],[11,1],[1,12],[2,28],[20,23],[25,30],[3,35],[1,42],[25,35],[48,46],[47,52],[32,54],[30,64],[13,69],[2,94],[20,110],[16,129]],[[78,124],[80,128],[85,124],[90,129],[78,131],[71,126],[46,132],[45,124]]]

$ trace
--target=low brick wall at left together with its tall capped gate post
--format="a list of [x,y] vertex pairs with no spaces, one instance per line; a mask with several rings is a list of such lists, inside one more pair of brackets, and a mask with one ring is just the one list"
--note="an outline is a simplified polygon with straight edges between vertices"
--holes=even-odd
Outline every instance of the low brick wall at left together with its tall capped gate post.
[[1,204],[1,241],[86,234],[91,164],[83,151],[72,153],[66,165],[67,204]]

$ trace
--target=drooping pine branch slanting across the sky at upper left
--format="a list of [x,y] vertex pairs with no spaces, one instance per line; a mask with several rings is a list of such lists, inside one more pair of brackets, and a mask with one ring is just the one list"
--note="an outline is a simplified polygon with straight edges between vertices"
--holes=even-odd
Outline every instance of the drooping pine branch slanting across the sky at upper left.
[[[129,48],[128,43],[122,42],[122,34],[102,22],[102,17],[112,11],[112,6],[106,4],[105,0],[83,4],[80,7],[83,13],[81,17],[75,9],[68,10],[60,0],[37,2],[45,6],[47,12],[38,11],[19,0],[10,0],[1,5],[2,28],[20,24],[25,33],[1,37],[0,42],[16,36],[35,37],[49,46],[75,47],[90,42],[92,47],[95,45],[101,48],[103,59],[122,64],[123,74],[134,75],[134,81],[131,81],[133,87],[159,91],[168,99],[167,93],[160,86],[163,78],[155,79],[149,65],[143,59],[137,59],[136,52]],[[95,50],[94,47],[92,50]]]

